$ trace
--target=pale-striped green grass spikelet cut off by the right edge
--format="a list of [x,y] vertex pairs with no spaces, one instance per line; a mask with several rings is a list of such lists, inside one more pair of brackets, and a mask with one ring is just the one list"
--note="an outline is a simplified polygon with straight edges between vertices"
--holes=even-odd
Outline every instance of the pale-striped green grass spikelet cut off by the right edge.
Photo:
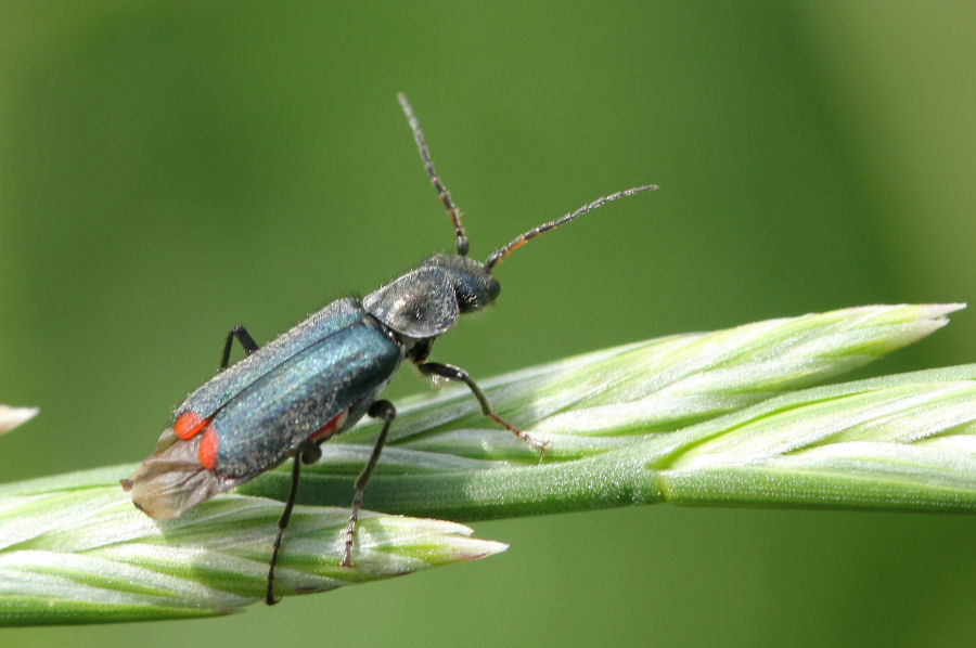
[[654,462],[675,504],[976,511],[976,365],[810,389],[681,436]]

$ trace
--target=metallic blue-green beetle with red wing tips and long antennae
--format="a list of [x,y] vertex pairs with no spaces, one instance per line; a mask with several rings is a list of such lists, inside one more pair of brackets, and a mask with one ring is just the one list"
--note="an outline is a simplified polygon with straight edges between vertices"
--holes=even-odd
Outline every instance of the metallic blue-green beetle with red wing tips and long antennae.
[[[432,379],[465,384],[481,414],[535,449],[541,461],[545,443],[495,414],[467,372],[427,362],[434,340],[452,328],[461,314],[495,302],[500,286],[491,271],[512,250],[606,203],[657,189],[647,184],[603,196],[532,228],[491,252],[484,263],[472,260],[461,213],[434,169],[413,109],[402,93],[397,99],[427,177],[447,208],[457,254],[432,255],[362,299],[333,301],[264,347],[258,347],[244,326],[231,328],[219,373],[176,409],[172,425],[163,431],[155,451],[120,482],[131,492],[132,503],[147,516],[170,519],[293,457],[288,497],[268,563],[268,605],[278,601],[274,566],[295,505],[301,464],[318,461],[321,443],[369,415],[383,419],[383,427],[355,482],[342,561],[343,567],[352,566],[363,491],[396,417],[394,405],[380,396],[404,359]],[[244,358],[230,365],[235,339]]]

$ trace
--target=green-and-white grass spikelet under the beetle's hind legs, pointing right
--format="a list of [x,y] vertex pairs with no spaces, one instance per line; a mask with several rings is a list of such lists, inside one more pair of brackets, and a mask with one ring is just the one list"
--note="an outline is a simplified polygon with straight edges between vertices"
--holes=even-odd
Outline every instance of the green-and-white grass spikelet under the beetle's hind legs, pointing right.
[[[261,600],[281,503],[230,495],[177,520],[132,507],[118,470],[0,492],[0,626],[226,614]],[[85,485],[81,485],[84,483]],[[275,593],[287,596],[488,556],[461,524],[364,513],[341,568],[348,509],[296,507]]]

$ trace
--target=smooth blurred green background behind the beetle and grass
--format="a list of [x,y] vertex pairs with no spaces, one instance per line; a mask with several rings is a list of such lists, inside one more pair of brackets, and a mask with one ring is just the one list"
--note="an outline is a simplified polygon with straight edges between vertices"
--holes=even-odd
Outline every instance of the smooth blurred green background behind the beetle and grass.
[[[435,347],[475,377],[665,334],[976,301],[971,2],[3,2],[0,402],[11,481],[141,459],[228,328],[267,340],[433,250],[534,242]],[[962,312],[868,374],[976,361]],[[424,389],[401,372],[394,400]],[[367,494],[369,505],[369,494]],[[4,646],[961,646],[972,517],[679,509],[209,621]]]

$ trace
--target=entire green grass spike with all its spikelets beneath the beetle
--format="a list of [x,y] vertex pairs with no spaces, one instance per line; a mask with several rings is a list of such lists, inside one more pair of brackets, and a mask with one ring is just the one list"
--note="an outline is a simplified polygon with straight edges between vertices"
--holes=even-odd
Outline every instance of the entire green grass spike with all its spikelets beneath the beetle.
[[[949,306],[863,307],[672,336],[483,387],[550,442],[544,463],[466,390],[398,404],[365,504],[454,520],[608,506],[976,510],[976,365],[810,388],[946,324]],[[280,595],[487,556],[452,522],[367,513],[337,567],[365,423],[303,472]],[[0,487],[0,625],[227,613],[258,600],[290,470],[154,522],[117,484],[133,466]],[[338,505],[343,508],[324,508]]]

